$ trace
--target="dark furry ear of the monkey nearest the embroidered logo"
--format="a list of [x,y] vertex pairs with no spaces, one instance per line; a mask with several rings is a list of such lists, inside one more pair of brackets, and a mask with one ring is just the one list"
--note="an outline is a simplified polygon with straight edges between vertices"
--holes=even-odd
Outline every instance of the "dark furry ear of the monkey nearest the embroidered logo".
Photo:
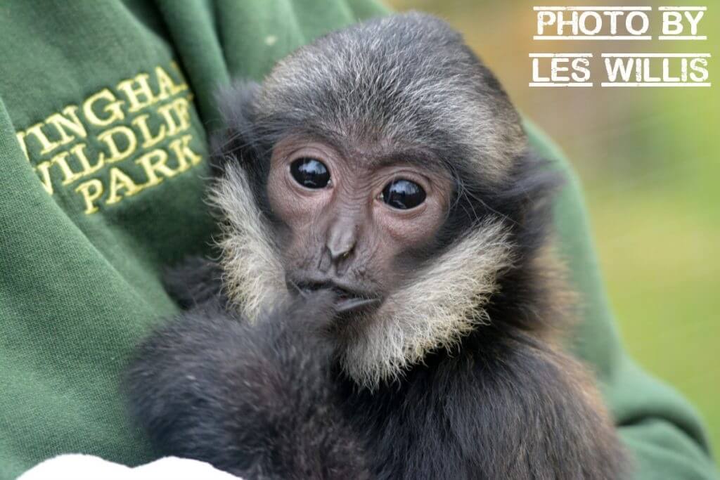
[[217,92],[215,101],[222,125],[210,137],[210,168],[221,176],[228,162],[238,162],[248,173],[256,168],[256,99],[261,86],[251,81],[235,81]]

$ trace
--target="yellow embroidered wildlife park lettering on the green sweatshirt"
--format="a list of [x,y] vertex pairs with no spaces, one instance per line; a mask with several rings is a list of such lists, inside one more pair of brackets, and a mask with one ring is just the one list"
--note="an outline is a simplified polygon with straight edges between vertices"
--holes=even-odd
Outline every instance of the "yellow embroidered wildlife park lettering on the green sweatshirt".
[[48,194],[79,196],[92,214],[202,161],[192,108],[171,63],[96,91],[17,132],[17,139]]

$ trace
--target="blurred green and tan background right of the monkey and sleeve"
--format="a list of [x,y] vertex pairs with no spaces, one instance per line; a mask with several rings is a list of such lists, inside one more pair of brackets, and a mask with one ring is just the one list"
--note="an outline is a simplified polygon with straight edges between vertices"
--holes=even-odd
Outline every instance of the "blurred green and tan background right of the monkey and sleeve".
[[[720,4],[705,41],[535,41],[534,5],[601,1],[386,0],[437,14],[464,33],[518,109],[564,149],[582,179],[600,265],[626,348],[698,407],[720,457]],[[528,53],[711,53],[711,88],[528,87]],[[598,70],[598,67],[602,70]]]

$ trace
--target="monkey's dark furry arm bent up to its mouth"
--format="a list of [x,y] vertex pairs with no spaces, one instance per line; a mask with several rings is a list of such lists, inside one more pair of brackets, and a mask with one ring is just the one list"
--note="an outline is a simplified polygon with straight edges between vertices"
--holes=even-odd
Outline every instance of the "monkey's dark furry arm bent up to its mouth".
[[321,296],[250,325],[207,302],[161,327],[127,372],[132,415],[167,455],[248,480],[366,479],[338,408]]

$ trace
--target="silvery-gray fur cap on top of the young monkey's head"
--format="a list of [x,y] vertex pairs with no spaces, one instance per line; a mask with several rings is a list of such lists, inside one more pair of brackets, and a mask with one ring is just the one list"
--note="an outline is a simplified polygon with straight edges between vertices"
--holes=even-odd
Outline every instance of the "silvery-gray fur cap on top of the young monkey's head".
[[426,14],[375,19],[300,48],[266,78],[257,104],[261,118],[344,138],[433,145],[441,158],[446,147],[462,149],[466,167],[488,181],[526,148],[495,76],[459,33]]

